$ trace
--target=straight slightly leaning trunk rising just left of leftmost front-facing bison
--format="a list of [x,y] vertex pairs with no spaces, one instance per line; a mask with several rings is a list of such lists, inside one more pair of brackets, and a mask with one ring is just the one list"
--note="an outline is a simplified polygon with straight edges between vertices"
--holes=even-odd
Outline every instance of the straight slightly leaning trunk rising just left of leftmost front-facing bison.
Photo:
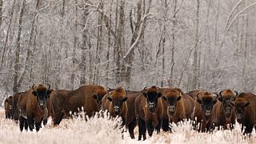
[[20,62],[19,62],[19,54],[20,54],[20,46],[21,46],[21,34],[22,34],[22,18],[23,18],[23,13],[25,9],[25,0],[22,0],[22,6],[21,10],[19,12],[19,17],[18,17],[18,34],[17,34],[17,40],[15,43],[15,63],[14,63],[14,86],[13,86],[13,92],[16,93],[18,92],[18,89],[20,87],[18,83],[18,73],[20,70]]

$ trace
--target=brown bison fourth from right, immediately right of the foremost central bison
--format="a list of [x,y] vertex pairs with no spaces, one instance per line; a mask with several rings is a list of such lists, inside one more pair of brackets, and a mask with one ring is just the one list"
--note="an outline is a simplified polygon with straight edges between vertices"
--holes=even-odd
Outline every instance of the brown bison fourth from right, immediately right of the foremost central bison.
[[[164,88],[162,99],[163,108],[166,110],[166,115],[169,119],[168,124],[169,122],[178,123],[185,118],[192,118],[194,100],[189,95],[184,94],[179,88]],[[162,128],[166,130],[168,125],[162,126]]]

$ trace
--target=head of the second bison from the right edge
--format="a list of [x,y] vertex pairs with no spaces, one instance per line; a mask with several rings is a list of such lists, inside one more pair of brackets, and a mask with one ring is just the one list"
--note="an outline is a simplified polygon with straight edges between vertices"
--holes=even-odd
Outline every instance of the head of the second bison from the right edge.
[[[235,94],[234,94],[235,93]],[[234,98],[238,95],[238,92],[232,90],[222,90],[219,93],[218,100],[222,102],[222,106],[224,108],[225,117],[230,118],[231,110],[233,109],[233,105],[231,104],[234,101]]]

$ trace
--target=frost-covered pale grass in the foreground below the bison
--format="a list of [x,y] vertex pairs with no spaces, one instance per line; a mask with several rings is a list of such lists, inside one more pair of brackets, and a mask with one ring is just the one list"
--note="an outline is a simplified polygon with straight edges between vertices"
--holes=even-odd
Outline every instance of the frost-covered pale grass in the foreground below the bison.
[[154,133],[146,141],[137,141],[138,127],[135,128],[135,140],[130,139],[129,133],[124,133],[122,139],[121,130],[114,129],[118,121],[111,121],[107,118],[91,118],[85,122],[82,118],[73,120],[65,119],[60,126],[42,126],[38,133],[20,132],[18,124],[6,120],[4,110],[0,109],[0,143],[256,143],[255,130],[250,138],[243,138],[240,127],[237,125],[234,130],[218,130],[212,134],[198,134],[191,130],[189,122],[182,126],[174,126],[174,132],[160,134]]

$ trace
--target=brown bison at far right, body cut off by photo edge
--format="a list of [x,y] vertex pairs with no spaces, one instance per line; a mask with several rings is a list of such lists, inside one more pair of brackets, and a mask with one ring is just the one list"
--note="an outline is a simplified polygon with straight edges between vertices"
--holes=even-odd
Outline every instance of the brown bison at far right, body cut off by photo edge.
[[[254,128],[256,120],[256,96],[252,93],[241,93],[235,98],[232,105],[238,123],[242,124],[242,130],[246,126],[244,134],[250,134]],[[256,127],[255,127],[256,128]]]

